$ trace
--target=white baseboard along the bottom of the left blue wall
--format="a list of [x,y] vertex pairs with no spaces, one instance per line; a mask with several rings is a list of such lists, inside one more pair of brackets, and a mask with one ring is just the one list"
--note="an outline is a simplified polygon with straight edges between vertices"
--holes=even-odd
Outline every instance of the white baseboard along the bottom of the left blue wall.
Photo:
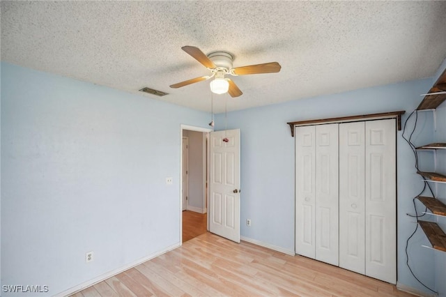
[[93,280],[89,280],[87,282],[79,284],[79,285],[77,285],[75,287],[72,287],[72,288],[70,288],[70,289],[68,289],[66,291],[63,291],[63,292],[61,292],[59,294],[56,294],[54,296],[56,296],[56,297],[70,296],[70,295],[75,294],[75,293],[77,293],[79,291],[82,291],[85,288],[91,287],[94,284],[97,284],[98,282],[102,282],[103,280],[107,280],[107,278],[109,278],[109,277],[113,277],[115,275],[118,275],[119,273],[122,273],[123,271],[127,271],[128,269],[133,268],[134,266],[138,266],[139,264],[142,264],[142,263],[144,263],[144,262],[146,262],[146,261],[148,261],[150,259],[153,259],[155,257],[158,257],[161,254],[169,252],[170,250],[174,250],[174,249],[178,248],[179,246],[180,246],[180,243],[176,243],[176,244],[171,245],[171,246],[169,246],[169,247],[167,247],[167,248],[165,248],[163,250],[160,250],[158,252],[154,252],[153,254],[149,254],[147,257],[141,258],[141,259],[139,259],[137,261],[134,261],[134,262],[132,262],[132,263],[130,263],[128,265],[125,265],[123,267],[116,268],[113,271],[109,271],[108,273],[105,273],[103,275],[100,275],[98,277],[93,278]]

